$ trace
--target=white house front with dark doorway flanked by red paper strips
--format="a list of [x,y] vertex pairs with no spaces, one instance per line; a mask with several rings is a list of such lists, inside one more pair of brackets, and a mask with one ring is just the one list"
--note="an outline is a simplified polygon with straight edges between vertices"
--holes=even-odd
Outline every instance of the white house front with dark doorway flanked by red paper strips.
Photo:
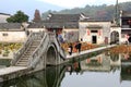
[[80,22],[80,38],[90,44],[108,44],[110,40],[109,21],[84,20]]

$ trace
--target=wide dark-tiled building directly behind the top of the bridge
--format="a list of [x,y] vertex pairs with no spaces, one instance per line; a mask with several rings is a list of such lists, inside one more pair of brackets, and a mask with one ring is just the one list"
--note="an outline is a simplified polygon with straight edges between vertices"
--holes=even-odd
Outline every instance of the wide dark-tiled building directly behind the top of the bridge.
[[[67,42],[79,40],[79,22],[84,18],[83,14],[52,14],[50,13],[45,21],[32,23],[27,27],[29,30],[36,28],[53,32],[61,36]],[[35,28],[36,27],[36,28]]]

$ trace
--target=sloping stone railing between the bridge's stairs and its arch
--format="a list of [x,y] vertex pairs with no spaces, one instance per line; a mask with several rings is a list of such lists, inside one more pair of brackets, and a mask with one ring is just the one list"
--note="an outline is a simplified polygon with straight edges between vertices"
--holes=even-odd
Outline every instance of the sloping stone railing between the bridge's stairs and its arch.
[[49,42],[48,35],[47,33],[45,33],[40,41],[40,45],[33,52],[32,58],[28,61],[27,64],[28,67],[34,69],[37,65],[38,61],[40,60],[40,57],[43,55],[43,52],[46,50],[48,46],[48,42]]

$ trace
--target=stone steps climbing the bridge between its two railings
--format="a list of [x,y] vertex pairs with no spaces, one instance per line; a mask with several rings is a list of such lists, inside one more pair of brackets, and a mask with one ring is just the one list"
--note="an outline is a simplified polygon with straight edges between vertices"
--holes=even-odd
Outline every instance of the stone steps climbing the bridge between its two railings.
[[41,41],[41,37],[37,36],[36,39],[34,39],[31,45],[27,47],[25,52],[22,54],[21,59],[16,62],[16,66],[27,66],[27,62],[29,58],[32,58],[33,52],[36,50],[36,48],[39,46]]

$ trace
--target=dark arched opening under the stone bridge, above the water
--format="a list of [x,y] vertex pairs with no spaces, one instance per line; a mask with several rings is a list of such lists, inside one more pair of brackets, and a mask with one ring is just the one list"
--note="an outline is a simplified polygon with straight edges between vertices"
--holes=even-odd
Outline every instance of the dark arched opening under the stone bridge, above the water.
[[55,44],[52,42],[47,48],[46,65],[56,65],[57,58],[58,58],[57,48],[56,48]]

